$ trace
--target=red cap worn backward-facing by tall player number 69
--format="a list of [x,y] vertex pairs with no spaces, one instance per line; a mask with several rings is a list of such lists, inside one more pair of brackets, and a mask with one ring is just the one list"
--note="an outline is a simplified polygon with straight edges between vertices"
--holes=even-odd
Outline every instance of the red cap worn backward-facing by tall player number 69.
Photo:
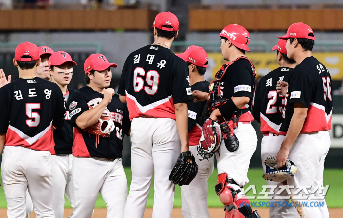
[[[152,24],[157,29],[162,29],[166,31],[177,31],[179,30],[179,20],[176,15],[171,12],[161,12],[156,15],[155,21]],[[170,25],[173,28],[163,27],[163,25]]]

